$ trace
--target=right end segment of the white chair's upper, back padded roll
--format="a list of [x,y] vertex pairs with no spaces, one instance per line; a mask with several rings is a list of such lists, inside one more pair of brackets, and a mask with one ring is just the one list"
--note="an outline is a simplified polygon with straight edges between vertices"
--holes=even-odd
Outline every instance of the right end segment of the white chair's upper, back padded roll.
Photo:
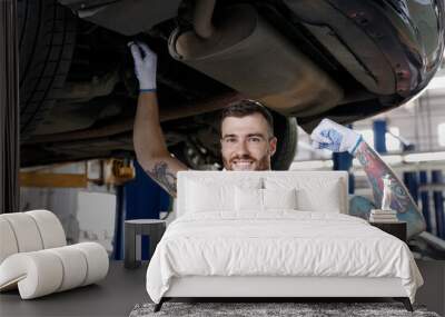
[[67,245],[63,227],[55,214],[48,210],[31,210],[24,214],[34,219],[43,241],[43,249]]

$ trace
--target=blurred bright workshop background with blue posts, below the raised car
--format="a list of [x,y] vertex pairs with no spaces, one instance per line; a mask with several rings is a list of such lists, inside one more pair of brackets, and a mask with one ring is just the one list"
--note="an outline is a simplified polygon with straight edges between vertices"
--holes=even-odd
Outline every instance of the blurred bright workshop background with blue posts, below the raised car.
[[[444,103],[445,69],[442,69],[418,98],[353,126],[404,179],[422,209],[427,224],[427,234],[422,236],[437,247],[433,252],[416,255],[422,258],[445,259]],[[313,149],[309,136],[300,128],[297,146],[290,170],[347,169],[354,179],[349,192],[373,199],[366,175],[356,159],[350,161],[348,155],[333,156],[328,150]],[[58,182],[55,175],[65,178]],[[136,161],[128,159],[22,169],[21,180],[20,210],[53,211],[70,242],[98,241],[116,259],[123,256],[123,219],[167,216],[168,222],[175,219],[174,199]],[[52,187],[46,187],[44,181]]]

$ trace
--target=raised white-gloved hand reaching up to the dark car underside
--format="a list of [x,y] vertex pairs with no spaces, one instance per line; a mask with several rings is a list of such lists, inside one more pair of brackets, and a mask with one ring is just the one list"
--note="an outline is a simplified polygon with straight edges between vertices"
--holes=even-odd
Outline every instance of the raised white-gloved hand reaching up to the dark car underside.
[[[139,90],[156,90],[156,61],[157,56],[147,44],[142,42],[129,42],[131,55],[135,60],[135,72],[139,80]],[[142,57],[144,56],[144,57]]]

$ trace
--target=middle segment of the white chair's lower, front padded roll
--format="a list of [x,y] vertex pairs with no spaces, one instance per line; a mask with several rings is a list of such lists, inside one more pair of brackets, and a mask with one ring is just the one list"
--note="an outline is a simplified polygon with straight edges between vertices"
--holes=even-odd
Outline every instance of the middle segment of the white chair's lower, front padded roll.
[[48,249],[57,255],[63,265],[63,280],[57,291],[81,286],[87,277],[87,259],[81,250],[72,246]]

